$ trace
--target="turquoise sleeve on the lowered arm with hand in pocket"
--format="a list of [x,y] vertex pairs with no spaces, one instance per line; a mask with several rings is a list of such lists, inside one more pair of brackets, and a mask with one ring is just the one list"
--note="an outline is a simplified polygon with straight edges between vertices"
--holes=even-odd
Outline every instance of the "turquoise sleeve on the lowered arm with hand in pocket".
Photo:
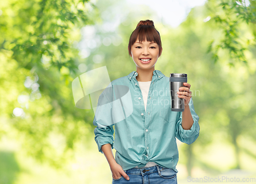
[[99,96],[96,113],[94,116],[93,124],[97,126],[94,129],[95,142],[98,145],[99,152],[103,153],[101,146],[104,144],[111,144],[114,148],[114,129],[112,118],[112,103],[102,92]]

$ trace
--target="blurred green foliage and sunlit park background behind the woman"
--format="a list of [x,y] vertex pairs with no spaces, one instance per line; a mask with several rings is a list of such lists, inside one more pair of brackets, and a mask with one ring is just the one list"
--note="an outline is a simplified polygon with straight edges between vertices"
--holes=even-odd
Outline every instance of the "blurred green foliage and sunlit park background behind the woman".
[[[232,169],[256,175],[256,4],[249,2],[209,0],[171,28],[149,7],[124,1],[1,1],[0,183],[111,182],[93,110],[75,107],[71,83],[101,66],[111,81],[136,70],[127,45],[145,19],[162,39],[155,69],[188,74],[200,117],[197,141],[179,144],[180,178]],[[15,108],[24,113],[15,117]]]

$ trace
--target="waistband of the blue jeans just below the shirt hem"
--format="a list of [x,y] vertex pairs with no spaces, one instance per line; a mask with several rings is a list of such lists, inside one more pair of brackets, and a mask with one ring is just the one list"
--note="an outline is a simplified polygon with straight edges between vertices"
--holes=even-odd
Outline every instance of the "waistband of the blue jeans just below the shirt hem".
[[[156,166],[147,167],[147,168],[132,168],[132,169],[125,170],[124,172],[126,174],[136,174],[136,175],[142,175],[143,176],[145,174],[151,174],[151,173],[154,173],[154,172],[158,172],[158,174],[160,174],[160,170],[162,171],[162,170],[165,170],[165,169],[168,169],[168,168],[156,165]],[[174,172],[174,174],[176,173],[174,170],[173,170],[173,172]]]

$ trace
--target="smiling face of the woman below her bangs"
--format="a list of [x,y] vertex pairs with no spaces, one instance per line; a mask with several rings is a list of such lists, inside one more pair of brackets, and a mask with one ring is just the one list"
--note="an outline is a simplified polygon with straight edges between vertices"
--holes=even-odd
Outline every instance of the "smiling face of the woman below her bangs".
[[159,46],[157,43],[150,43],[147,40],[136,42],[131,47],[132,58],[137,67],[141,69],[150,69],[155,66],[159,56]]

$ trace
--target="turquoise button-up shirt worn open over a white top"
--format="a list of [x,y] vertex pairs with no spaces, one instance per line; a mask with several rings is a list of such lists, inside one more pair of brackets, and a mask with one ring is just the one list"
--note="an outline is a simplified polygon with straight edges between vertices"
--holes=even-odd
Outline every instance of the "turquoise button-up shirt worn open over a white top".
[[93,120],[97,126],[94,134],[98,150],[103,153],[101,146],[111,144],[112,149],[116,149],[115,160],[123,170],[155,162],[178,172],[176,138],[191,144],[199,136],[199,117],[193,100],[189,101],[189,109],[194,123],[190,129],[184,130],[181,126],[182,112],[170,110],[169,77],[159,70],[153,71],[145,112],[137,75],[133,71],[112,81],[100,94]]

